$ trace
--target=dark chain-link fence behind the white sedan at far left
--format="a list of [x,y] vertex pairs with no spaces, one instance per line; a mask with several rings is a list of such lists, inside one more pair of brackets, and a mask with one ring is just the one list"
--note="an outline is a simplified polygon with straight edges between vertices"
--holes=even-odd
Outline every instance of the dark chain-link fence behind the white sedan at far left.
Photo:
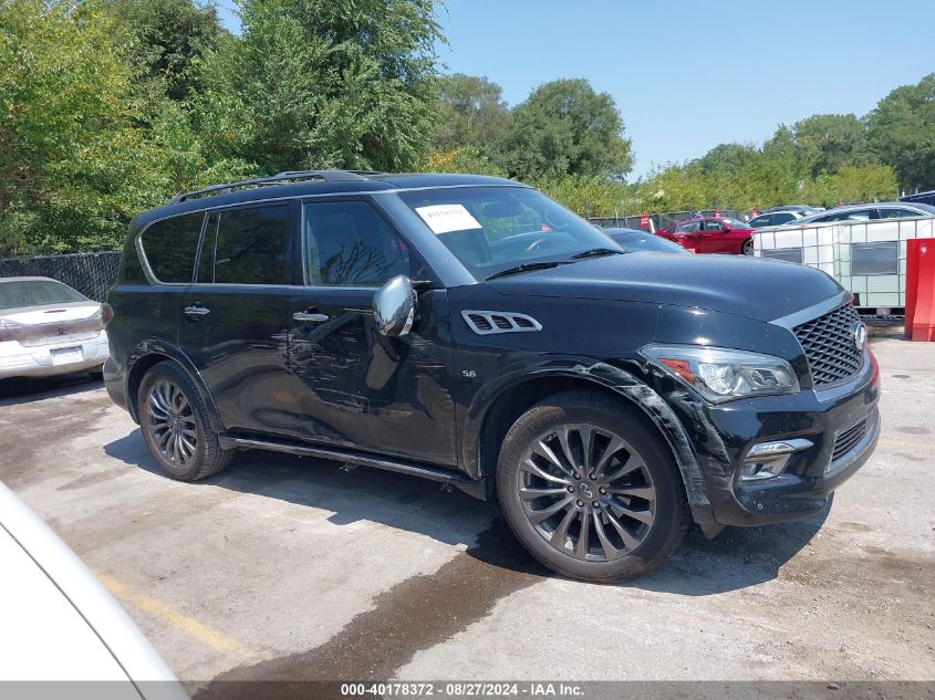
[[0,258],[0,278],[52,278],[103,302],[107,290],[117,281],[121,251],[103,253],[67,253],[64,255],[31,255]]

